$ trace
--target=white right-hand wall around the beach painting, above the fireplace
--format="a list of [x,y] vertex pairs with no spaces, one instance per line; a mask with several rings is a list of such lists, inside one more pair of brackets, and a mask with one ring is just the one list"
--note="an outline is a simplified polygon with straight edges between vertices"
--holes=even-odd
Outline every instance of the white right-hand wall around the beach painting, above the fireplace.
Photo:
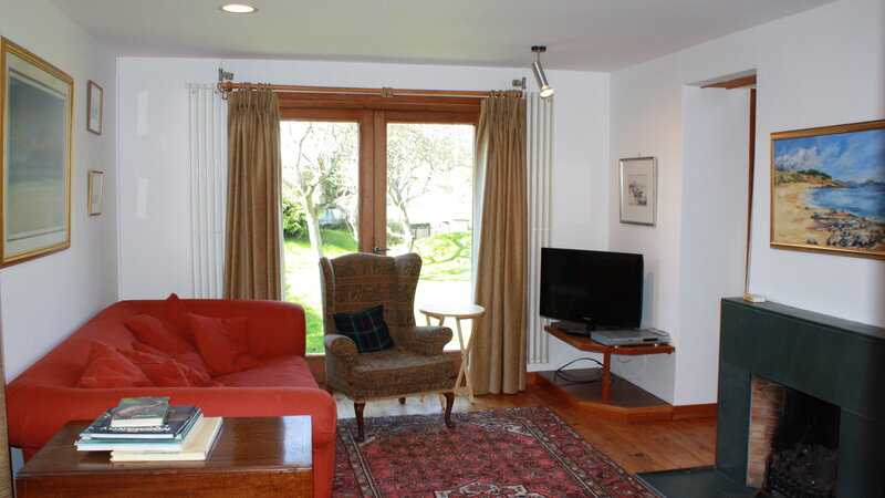
[[[840,0],[612,74],[611,168],[618,157],[657,156],[659,197],[656,228],[622,226],[617,210],[610,209],[610,247],[646,255],[654,282],[647,324],[670,332],[677,346],[671,359],[649,362],[639,385],[677,405],[716,401],[706,374],[695,372],[716,372],[718,351],[710,336],[718,328],[695,330],[699,325],[693,325],[689,314],[697,310],[685,301],[698,286],[689,277],[707,271],[710,258],[719,255],[687,252],[704,236],[695,227],[704,214],[684,204],[698,194],[686,144],[708,138],[686,115],[690,97],[685,85],[693,82],[757,71],[750,291],[783,304],[885,324],[885,263],[775,250],[768,243],[770,134],[885,117],[884,20],[881,0]],[[616,191],[610,179],[610,208],[616,206]],[[701,312],[718,313],[718,308]],[[697,351],[690,344],[701,336],[705,351]],[[660,380],[673,375],[670,392]]]

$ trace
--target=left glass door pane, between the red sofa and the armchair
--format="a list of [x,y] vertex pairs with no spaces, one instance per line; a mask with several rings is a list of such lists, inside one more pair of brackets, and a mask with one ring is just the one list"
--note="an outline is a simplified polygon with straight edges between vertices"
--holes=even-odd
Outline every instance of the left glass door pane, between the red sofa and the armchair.
[[280,123],[285,300],[304,307],[308,353],[323,352],[319,259],[357,250],[360,123]]

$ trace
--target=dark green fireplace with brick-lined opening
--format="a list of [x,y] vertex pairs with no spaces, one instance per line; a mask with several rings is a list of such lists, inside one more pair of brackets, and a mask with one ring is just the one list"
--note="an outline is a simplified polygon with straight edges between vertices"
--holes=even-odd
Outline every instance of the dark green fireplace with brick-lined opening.
[[716,470],[775,496],[885,496],[885,330],[740,299],[721,320]]

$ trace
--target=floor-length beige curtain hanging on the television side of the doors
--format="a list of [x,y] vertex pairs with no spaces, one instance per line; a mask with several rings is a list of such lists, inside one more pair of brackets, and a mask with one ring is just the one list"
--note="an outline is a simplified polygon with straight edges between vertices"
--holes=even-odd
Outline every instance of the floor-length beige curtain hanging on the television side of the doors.
[[528,194],[525,101],[491,96],[482,102],[476,138],[481,191],[476,301],[486,308],[471,351],[473,392],[525,390],[525,286]]

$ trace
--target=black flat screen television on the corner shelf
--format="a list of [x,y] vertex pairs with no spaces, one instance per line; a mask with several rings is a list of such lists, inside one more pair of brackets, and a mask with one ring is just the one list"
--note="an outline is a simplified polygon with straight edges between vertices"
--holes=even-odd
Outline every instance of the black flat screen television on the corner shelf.
[[586,329],[638,329],[643,255],[541,249],[541,315]]

